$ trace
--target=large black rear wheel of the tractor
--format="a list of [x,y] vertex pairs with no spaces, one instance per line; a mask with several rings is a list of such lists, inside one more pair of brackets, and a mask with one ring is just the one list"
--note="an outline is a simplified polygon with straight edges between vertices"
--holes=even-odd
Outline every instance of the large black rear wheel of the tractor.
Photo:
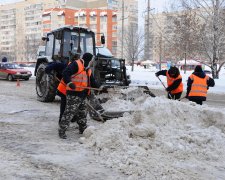
[[58,81],[52,74],[45,73],[46,64],[40,64],[36,74],[37,99],[41,102],[52,102],[56,96]]

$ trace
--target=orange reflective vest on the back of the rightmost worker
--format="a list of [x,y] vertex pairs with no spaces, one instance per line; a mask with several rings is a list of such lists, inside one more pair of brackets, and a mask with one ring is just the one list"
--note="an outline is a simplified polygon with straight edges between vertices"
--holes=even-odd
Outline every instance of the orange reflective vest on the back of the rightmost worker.
[[200,78],[194,74],[190,75],[190,79],[193,81],[191,85],[191,90],[188,96],[207,96],[207,81],[209,80],[209,76],[205,76],[204,78]]

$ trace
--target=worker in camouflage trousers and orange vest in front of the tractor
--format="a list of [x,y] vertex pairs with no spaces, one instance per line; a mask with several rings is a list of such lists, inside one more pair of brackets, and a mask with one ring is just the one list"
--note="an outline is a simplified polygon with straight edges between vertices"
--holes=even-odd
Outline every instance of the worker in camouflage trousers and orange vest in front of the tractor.
[[93,55],[84,53],[82,59],[69,64],[63,71],[63,81],[67,85],[66,108],[59,122],[59,137],[66,139],[66,130],[71,119],[77,115],[76,122],[79,126],[79,133],[82,134],[87,128],[87,107],[85,100],[90,95],[90,87],[99,88],[89,68]]

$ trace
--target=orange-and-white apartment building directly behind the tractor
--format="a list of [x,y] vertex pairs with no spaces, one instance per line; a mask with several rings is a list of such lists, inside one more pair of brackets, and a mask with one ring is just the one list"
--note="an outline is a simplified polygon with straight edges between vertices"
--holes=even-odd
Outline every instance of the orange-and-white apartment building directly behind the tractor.
[[43,34],[63,27],[65,25],[76,25],[91,29],[96,34],[96,43],[101,45],[100,37],[106,37],[106,46],[116,54],[117,41],[117,12],[111,9],[68,9],[51,8],[42,14]]

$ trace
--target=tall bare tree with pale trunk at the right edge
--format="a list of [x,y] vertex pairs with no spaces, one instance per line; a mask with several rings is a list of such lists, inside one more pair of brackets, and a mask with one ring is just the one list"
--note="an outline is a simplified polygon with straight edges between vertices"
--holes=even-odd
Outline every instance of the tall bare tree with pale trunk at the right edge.
[[221,67],[225,64],[225,10],[224,0],[180,0],[186,9],[198,9],[201,18],[201,49],[212,69],[213,78],[219,78]]

